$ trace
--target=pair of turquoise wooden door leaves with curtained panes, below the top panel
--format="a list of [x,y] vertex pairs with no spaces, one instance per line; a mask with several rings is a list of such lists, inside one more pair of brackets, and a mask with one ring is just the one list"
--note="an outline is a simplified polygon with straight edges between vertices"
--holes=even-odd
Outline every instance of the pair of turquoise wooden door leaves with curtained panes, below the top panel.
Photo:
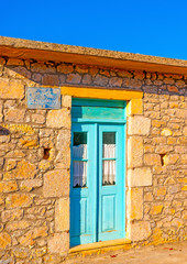
[[124,238],[124,124],[73,123],[70,246]]

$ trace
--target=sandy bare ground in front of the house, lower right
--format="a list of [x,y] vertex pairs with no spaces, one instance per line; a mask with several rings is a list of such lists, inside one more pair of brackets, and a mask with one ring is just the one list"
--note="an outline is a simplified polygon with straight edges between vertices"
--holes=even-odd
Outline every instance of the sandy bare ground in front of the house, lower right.
[[187,264],[187,242],[132,249],[124,252],[74,258],[65,264]]

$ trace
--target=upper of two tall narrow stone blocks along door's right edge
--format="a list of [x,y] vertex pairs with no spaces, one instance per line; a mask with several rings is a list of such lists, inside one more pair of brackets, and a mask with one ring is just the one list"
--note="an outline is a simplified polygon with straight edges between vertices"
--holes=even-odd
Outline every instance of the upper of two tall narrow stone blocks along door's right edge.
[[130,136],[128,139],[128,167],[139,167],[143,164],[143,139]]

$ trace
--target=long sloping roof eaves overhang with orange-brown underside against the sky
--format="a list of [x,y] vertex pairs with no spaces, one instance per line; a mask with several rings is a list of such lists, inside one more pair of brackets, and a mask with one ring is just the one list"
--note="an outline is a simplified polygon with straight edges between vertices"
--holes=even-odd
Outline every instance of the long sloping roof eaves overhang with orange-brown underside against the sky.
[[187,75],[187,61],[0,36],[0,56]]

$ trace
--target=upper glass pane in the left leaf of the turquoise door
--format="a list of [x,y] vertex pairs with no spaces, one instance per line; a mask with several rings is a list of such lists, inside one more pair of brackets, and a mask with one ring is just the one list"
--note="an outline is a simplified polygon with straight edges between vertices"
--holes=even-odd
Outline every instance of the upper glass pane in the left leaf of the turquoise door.
[[74,132],[73,158],[87,158],[87,132]]

